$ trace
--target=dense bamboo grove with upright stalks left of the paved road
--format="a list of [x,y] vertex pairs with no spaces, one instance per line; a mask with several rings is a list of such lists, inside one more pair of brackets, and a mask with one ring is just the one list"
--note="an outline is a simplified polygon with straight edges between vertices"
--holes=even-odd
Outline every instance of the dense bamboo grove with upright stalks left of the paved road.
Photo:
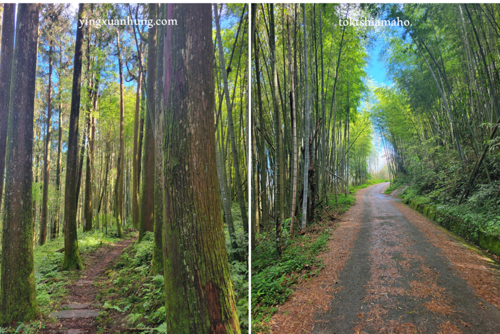
[[353,5],[252,6],[250,239],[257,245],[259,235],[271,236],[280,254],[281,233],[303,233],[329,196],[347,197],[349,185],[374,171],[372,127],[361,105],[369,33],[338,26]]

